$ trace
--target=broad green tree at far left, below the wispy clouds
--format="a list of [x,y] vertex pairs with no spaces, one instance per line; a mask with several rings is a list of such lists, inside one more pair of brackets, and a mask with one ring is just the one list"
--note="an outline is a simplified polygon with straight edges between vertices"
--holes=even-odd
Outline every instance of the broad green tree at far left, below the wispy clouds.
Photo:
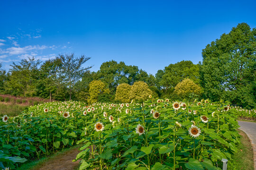
[[9,94],[34,96],[38,80],[38,66],[41,61],[34,57],[22,59],[18,64],[10,65],[9,79],[5,82],[5,90]]

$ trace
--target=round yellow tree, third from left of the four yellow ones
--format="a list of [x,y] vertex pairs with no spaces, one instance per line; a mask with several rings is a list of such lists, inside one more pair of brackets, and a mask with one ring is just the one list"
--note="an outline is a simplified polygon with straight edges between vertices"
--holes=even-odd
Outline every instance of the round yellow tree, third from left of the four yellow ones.
[[152,95],[152,91],[148,88],[145,82],[138,81],[131,86],[130,100],[143,102]]

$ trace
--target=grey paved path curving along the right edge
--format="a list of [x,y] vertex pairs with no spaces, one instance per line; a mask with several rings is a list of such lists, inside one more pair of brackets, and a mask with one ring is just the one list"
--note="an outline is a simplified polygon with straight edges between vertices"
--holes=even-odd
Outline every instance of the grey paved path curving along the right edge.
[[254,169],[256,170],[256,123],[238,121],[239,129],[244,131],[250,138],[254,150]]

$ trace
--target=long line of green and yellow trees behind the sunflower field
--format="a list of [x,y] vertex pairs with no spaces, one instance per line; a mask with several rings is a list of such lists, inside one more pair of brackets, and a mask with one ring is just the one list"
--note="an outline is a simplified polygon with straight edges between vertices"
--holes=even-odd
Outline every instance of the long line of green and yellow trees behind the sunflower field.
[[[223,99],[247,108],[256,107],[255,28],[238,24],[229,34],[222,34],[208,44],[202,57],[202,63],[183,60],[155,75],[114,60],[91,72],[91,66],[83,67],[90,58],[76,58],[74,54],[59,55],[45,62],[22,59],[13,63],[8,72],[0,70],[0,93],[88,103],[123,102],[120,96],[126,96],[124,100],[136,99],[136,93],[145,88],[155,98]],[[134,85],[135,82],[140,83]],[[117,94],[119,85],[125,88]],[[136,88],[133,93],[128,90]]]

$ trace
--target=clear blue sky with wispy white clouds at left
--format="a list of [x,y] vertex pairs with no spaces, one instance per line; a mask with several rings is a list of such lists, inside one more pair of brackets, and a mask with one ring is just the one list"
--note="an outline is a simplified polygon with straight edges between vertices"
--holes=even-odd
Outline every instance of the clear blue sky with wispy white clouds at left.
[[238,23],[256,27],[256,1],[1,0],[0,62],[59,53],[86,66],[124,61],[155,75],[171,63],[202,61],[201,50]]

